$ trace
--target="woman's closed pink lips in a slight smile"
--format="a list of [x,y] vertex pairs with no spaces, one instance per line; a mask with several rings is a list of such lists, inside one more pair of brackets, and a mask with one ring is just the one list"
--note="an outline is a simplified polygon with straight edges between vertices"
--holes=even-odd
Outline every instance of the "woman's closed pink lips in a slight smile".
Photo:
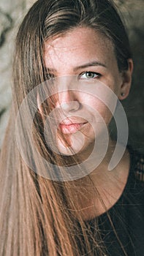
[[86,126],[87,122],[84,123],[71,123],[71,124],[59,124],[58,128],[63,134],[72,134],[77,132]]

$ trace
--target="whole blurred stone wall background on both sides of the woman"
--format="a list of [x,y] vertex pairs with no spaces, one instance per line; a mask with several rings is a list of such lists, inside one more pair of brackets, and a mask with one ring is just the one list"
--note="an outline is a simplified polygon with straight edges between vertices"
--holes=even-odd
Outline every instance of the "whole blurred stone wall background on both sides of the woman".
[[[7,126],[11,102],[12,52],[16,31],[34,0],[1,0],[0,2],[0,148]],[[131,94],[124,100],[129,121],[129,143],[144,151],[144,1],[115,0],[126,20],[134,59]]]

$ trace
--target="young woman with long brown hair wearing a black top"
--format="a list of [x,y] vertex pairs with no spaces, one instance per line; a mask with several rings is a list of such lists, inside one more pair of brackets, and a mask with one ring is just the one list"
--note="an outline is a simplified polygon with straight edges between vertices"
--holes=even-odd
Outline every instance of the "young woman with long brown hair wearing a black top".
[[119,146],[109,171],[133,68],[113,2],[38,0],[15,49],[0,255],[143,255],[143,159]]

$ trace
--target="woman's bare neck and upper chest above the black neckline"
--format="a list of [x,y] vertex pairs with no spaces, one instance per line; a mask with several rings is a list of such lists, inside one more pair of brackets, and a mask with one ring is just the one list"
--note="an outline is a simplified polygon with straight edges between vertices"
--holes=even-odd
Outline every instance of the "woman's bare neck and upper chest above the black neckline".
[[129,152],[125,151],[118,165],[109,171],[108,165],[114,149],[115,143],[110,141],[101,164],[90,175],[72,181],[77,214],[81,214],[83,219],[103,214],[116,203],[124,191],[129,174]]

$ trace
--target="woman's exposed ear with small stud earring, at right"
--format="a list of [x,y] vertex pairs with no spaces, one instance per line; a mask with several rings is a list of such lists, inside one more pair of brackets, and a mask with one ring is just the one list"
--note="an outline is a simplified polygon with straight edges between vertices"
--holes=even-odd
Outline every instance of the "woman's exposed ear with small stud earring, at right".
[[119,99],[126,99],[129,95],[129,90],[132,83],[132,71],[133,71],[133,61],[128,59],[128,69],[121,72],[122,84],[119,94]]

